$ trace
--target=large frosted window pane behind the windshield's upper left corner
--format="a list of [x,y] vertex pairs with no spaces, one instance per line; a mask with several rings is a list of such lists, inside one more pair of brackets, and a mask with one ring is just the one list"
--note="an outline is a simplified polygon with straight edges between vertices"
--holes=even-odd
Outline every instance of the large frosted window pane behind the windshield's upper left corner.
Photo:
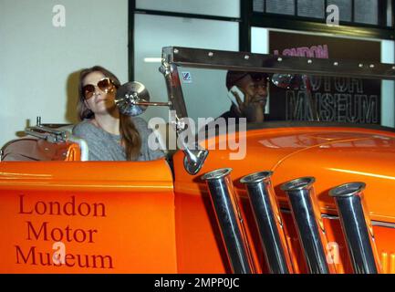
[[[147,87],[152,101],[167,101],[166,84],[158,70],[161,66],[161,48],[179,46],[237,51],[238,28],[237,22],[136,15],[135,80]],[[213,71],[212,75],[205,77],[195,76],[195,71],[189,69],[186,69],[184,73],[188,72],[190,80],[182,83],[182,86],[186,90],[191,89],[189,91],[192,97],[203,99],[203,96],[216,96],[224,90],[223,72]],[[210,86],[205,86],[205,84]],[[198,91],[193,93],[193,89]],[[168,120],[168,111],[165,107],[149,107],[144,113],[144,118],[149,120],[152,117],[161,117]]]

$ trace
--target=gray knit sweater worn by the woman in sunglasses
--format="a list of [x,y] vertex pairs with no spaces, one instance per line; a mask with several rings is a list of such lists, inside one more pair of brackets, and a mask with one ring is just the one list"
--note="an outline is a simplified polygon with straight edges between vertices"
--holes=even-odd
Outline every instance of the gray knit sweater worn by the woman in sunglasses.
[[[140,133],[141,149],[137,161],[151,161],[164,156],[161,150],[152,151],[148,147],[148,137],[152,130],[140,117],[131,118]],[[126,161],[125,150],[120,146],[120,135],[114,135],[96,127],[88,120],[78,123],[73,129],[73,135],[87,141],[89,161]]]

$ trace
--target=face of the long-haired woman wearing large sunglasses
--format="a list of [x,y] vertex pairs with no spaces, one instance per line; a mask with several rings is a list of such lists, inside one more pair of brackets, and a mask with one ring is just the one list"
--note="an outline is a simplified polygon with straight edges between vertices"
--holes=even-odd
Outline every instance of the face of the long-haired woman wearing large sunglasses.
[[94,86],[95,88],[93,95],[90,98],[85,99],[85,103],[88,106],[88,109],[92,110],[95,113],[95,115],[109,114],[112,110],[116,108],[116,105],[114,103],[115,93],[116,93],[115,87],[112,86],[107,93],[99,89],[98,87],[98,82],[103,78],[106,78],[103,73],[99,71],[94,71],[89,73],[82,80],[82,88],[84,88],[88,84]]

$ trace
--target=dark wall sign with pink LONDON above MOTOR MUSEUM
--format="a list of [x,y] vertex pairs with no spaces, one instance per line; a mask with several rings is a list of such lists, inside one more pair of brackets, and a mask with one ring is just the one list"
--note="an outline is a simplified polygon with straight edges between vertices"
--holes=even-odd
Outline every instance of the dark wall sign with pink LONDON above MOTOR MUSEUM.
[[[380,62],[380,42],[271,31],[270,53],[283,56],[352,59]],[[270,89],[273,120],[311,120],[317,109],[321,121],[380,123],[381,80],[308,76],[305,89]],[[303,86],[302,86],[303,88]]]

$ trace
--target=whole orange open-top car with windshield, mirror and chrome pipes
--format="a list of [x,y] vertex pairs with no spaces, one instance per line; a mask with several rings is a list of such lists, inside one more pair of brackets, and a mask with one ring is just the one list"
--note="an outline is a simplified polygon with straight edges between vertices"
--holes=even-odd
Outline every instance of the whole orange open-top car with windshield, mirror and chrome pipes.
[[[392,65],[336,63],[165,47],[169,102],[120,90],[118,103],[169,106],[180,137],[199,101],[188,100],[181,67],[283,83],[395,77]],[[85,141],[38,122],[2,151],[0,272],[395,273],[395,132],[322,120],[307,93],[311,119],[217,129],[151,162],[87,162]]]

